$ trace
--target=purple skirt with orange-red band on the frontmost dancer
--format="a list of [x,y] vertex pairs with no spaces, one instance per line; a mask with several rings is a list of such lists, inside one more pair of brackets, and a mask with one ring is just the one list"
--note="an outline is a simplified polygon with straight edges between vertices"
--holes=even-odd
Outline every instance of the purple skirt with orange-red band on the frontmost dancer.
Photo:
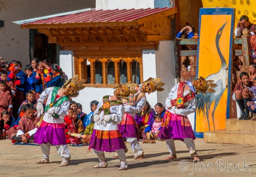
[[113,152],[125,149],[124,140],[118,130],[103,131],[93,130],[90,147],[97,151]]

